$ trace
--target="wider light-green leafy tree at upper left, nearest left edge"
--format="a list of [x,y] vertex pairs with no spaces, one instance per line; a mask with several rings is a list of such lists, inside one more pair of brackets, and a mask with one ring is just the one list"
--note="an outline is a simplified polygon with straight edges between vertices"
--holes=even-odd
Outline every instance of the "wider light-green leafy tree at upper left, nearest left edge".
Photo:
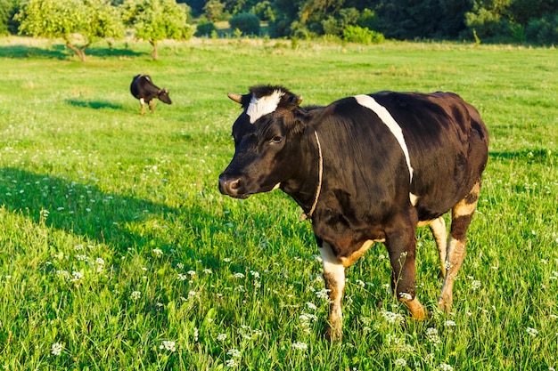
[[14,16],[20,34],[59,38],[86,61],[86,48],[104,37],[124,33],[117,8],[108,0],[29,0]]

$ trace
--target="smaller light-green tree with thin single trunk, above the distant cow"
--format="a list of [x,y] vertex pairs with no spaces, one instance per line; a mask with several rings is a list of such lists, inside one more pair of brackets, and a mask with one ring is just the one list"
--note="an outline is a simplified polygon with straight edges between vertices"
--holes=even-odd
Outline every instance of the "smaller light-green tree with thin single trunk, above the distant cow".
[[152,44],[152,58],[158,60],[161,40],[192,37],[193,27],[186,23],[188,10],[186,4],[174,0],[127,0],[122,4],[122,17],[135,29],[135,37]]

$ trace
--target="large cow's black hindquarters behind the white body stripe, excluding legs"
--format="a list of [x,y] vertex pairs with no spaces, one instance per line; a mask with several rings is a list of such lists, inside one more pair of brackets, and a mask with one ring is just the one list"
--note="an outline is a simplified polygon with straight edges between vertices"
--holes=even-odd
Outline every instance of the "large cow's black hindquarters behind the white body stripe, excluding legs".
[[373,98],[405,136],[419,218],[446,213],[480,181],[488,161],[488,130],[479,112],[455,93],[377,93]]

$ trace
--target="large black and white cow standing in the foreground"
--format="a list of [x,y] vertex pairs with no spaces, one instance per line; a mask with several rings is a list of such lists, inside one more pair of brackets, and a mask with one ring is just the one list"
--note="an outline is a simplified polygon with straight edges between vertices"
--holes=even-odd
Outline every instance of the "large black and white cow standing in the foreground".
[[[330,338],[341,338],[345,269],[374,241],[388,249],[398,300],[414,319],[427,316],[415,289],[421,225],[430,226],[439,249],[439,307],[451,309],[488,160],[487,128],[472,105],[454,93],[380,92],[305,109],[300,96],[268,85],[228,96],[243,111],[219,190],[247,198],[279,188],[302,207],[324,264]],[[442,215],[449,210],[447,242]]]

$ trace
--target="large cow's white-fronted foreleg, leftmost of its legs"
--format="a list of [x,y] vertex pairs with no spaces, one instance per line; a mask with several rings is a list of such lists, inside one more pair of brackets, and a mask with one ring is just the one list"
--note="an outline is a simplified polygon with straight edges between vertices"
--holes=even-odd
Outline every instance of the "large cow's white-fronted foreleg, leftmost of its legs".
[[333,254],[332,246],[327,242],[322,242],[322,246],[318,247],[324,264],[325,288],[328,290],[330,298],[327,335],[332,341],[341,340],[343,324],[341,300],[345,291],[345,267],[341,264],[339,258]]

